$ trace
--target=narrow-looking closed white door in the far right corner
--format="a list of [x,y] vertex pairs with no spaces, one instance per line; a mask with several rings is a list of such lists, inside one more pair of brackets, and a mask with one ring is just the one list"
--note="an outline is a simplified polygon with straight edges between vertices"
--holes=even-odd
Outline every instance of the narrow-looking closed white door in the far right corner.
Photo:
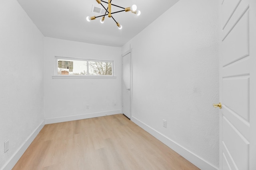
[[123,114],[130,119],[130,53],[123,56],[122,64],[122,104]]

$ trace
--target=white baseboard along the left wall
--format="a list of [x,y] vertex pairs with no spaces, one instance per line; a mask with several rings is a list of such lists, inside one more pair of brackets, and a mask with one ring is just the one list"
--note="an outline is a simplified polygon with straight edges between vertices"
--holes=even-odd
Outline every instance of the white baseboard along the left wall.
[[29,145],[34,141],[38,133],[44,127],[44,121],[31,133],[31,135],[22,143],[20,148],[13,154],[13,156],[4,164],[1,170],[11,170],[18,162],[22,154],[28,149]]

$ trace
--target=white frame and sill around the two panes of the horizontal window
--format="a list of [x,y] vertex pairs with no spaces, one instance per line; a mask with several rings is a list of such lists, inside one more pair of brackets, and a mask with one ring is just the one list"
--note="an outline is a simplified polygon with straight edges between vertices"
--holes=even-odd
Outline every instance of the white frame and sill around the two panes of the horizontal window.
[[[86,61],[87,62],[87,75],[60,75],[58,74],[58,60],[77,60],[77,61]],[[89,75],[89,61],[95,62],[107,62],[112,63],[112,75]],[[53,79],[60,79],[60,78],[116,78],[115,71],[114,71],[114,61],[112,60],[96,60],[96,59],[81,59],[81,58],[71,58],[71,57],[57,57],[55,56],[54,61],[54,76]]]

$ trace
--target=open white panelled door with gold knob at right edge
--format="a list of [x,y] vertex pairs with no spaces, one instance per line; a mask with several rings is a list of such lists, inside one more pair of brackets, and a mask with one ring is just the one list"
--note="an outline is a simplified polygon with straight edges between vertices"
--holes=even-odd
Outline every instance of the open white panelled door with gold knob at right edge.
[[256,170],[253,1],[220,0],[220,170]]

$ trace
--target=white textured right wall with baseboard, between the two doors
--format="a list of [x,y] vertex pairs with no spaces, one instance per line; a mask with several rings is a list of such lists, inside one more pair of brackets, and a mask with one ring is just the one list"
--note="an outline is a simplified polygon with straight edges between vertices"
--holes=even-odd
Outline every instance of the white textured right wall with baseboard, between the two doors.
[[132,121],[205,170],[218,169],[217,29],[218,1],[180,0],[122,47]]

